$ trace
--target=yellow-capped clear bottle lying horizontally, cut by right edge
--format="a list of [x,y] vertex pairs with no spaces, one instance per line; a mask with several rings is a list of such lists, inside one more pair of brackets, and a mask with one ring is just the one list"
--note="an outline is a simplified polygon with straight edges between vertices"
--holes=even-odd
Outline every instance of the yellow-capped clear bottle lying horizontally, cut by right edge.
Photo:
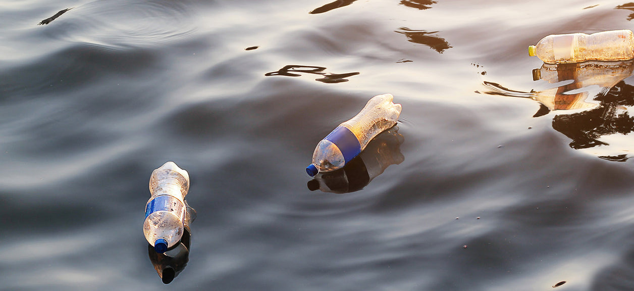
[[631,60],[634,58],[634,34],[628,29],[594,34],[552,34],[536,46],[529,46],[528,55],[538,56],[545,63]]

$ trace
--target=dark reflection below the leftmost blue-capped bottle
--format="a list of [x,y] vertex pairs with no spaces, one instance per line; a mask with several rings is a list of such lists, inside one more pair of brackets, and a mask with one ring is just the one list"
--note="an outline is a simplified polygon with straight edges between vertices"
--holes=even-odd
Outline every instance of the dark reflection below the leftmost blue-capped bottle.
[[174,280],[174,278],[183,271],[187,262],[190,260],[190,223],[196,219],[196,210],[191,208],[190,205],[187,205],[187,201],[185,201],[185,206],[187,210],[183,221],[184,230],[181,241],[163,254],[157,253],[154,250],[154,247],[148,243],[148,255],[150,256],[150,261],[165,284],[169,284],[172,280]]

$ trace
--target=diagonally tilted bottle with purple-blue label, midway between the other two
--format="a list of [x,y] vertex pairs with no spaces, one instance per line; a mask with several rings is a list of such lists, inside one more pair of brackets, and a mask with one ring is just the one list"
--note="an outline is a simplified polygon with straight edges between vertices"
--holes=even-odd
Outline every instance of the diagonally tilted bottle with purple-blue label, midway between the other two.
[[306,172],[312,177],[318,172],[342,168],[377,134],[394,126],[401,114],[401,105],[392,103],[392,100],[392,94],[374,96],[359,114],[337,126],[318,143],[313,153],[313,164],[306,167]]

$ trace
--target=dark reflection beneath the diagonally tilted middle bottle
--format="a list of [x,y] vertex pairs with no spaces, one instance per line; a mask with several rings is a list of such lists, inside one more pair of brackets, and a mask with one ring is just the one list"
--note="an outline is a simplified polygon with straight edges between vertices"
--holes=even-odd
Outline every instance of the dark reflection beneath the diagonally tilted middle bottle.
[[398,133],[398,129],[398,126],[394,126],[378,134],[368,143],[365,150],[348,162],[343,169],[317,174],[314,179],[308,181],[308,189],[331,193],[358,191],[390,165],[401,164],[405,160],[400,150],[404,138]]

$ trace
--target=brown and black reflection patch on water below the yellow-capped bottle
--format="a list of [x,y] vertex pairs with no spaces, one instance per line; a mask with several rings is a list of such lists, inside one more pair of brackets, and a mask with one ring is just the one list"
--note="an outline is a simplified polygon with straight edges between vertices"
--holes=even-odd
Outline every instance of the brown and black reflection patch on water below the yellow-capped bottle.
[[[634,106],[634,87],[623,80],[632,74],[633,68],[634,61],[544,63],[541,68],[533,70],[533,80],[565,84],[541,91],[522,92],[484,82],[489,91],[482,93],[539,101],[541,108],[533,117],[546,115],[551,110],[581,110],[555,115],[553,129],[573,139],[571,148],[593,148],[591,152],[600,158],[624,161],[630,157],[631,143],[623,143],[621,139],[634,131],[634,117],[628,113],[628,107]],[[592,100],[588,98],[587,87],[590,86],[600,87]],[[611,146],[611,143],[616,145]]]

